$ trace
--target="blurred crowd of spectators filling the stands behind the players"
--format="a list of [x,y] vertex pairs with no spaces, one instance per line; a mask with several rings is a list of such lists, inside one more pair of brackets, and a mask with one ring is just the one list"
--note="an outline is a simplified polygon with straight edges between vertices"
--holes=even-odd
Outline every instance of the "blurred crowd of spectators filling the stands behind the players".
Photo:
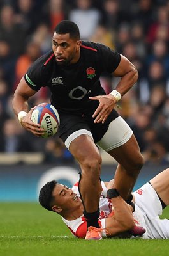
[[[0,152],[42,152],[44,163],[74,161],[57,136],[36,138],[18,124],[13,92],[27,68],[49,51],[55,25],[78,24],[82,40],[108,45],[138,69],[138,83],[117,111],[133,129],[146,163],[169,162],[169,1],[168,0],[1,0]],[[117,79],[103,74],[109,93]],[[50,102],[43,88],[30,107]]]

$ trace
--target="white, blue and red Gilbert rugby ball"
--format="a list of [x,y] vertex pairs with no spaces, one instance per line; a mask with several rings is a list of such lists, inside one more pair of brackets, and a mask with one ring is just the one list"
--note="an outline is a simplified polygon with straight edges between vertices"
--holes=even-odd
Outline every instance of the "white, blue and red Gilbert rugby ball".
[[45,129],[45,134],[41,136],[43,138],[53,136],[59,129],[59,114],[49,103],[41,103],[36,106],[31,114],[31,120]]

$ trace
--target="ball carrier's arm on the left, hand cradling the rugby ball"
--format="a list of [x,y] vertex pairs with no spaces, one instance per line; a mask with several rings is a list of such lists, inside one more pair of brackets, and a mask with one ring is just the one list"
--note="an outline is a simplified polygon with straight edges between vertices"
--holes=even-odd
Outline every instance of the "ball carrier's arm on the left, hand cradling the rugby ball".
[[42,129],[40,125],[34,124],[34,122],[31,121],[31,113],[33,112],[33,108],[28,111],[28,99],[35,93],[36,91],[31,89],[27,85],[24,77],[22,77],[13,95],[12,105],[13,110],[17,116],[20,111],[24,111],[27,113],[27,115],[23,116],[20,119],[20,124],[25,129],[27,129],[27,131],[31,131],[35,136],[41,136],[41,134],[44,133],[44,129]]

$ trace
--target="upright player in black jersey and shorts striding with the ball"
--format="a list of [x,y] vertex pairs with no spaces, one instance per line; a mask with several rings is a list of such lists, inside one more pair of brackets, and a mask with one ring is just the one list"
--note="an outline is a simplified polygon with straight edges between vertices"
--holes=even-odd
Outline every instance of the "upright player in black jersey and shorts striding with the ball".
[[[121,77],[108,95],[99,81],[103,72]],[[33,109],[29,110],[28,100],[41,87],[50,89],[51,103],[61,120],[59,136],[82,170],[79,191],[87,227],[99,228],[98,147],[119,163],[111,196],[116,196],[117,189],[126,202],[132,199],[143,157],[133,131],[114,107],[137,79],[138,72],[126,57],[105,45],[81,41],[77,24],[63,20],[55,28],[52,50],[34,61],[14,93],[13,109],[20,124],[41,136],[44,130],[31,121]]]

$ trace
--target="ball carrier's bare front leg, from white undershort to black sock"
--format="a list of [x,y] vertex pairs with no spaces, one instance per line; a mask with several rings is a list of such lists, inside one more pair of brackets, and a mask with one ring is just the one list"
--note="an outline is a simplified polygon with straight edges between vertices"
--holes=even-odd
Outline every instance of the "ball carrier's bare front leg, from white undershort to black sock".
[[92,138],[86,134],[78,136],[70,144],[70,152],[82,170],[80,194],[86,212],[96,212],[101,194],[101,156]]

